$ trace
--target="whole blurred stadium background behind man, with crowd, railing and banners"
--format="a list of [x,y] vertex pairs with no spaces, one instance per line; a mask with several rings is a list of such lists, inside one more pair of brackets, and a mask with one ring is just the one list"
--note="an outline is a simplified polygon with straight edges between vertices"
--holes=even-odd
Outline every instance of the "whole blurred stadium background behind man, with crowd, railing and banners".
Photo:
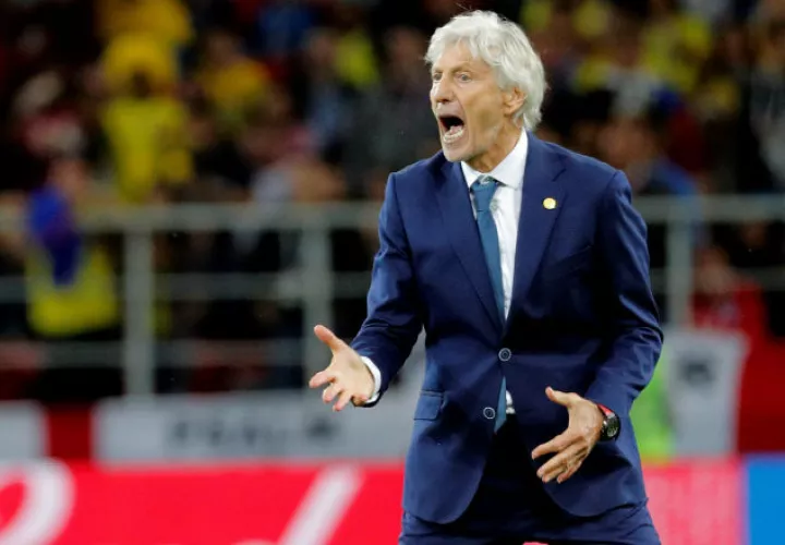
[[422,348],[334,415],[311,327],[364,316],[386,175],[438,147],[427,37],[468,8],[520,22],[538,133],[649,221],[664,543],[785,543],[785,2],[5,0],[0,544],[395,543]]

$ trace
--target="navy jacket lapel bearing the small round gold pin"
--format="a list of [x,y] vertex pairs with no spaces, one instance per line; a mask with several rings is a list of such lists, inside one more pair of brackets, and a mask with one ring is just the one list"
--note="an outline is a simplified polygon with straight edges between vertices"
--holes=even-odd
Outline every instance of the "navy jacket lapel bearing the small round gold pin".
[[[512,312],[520,306],[540,268],[559,211],[564,206],[564,185],[556,178],[564,166],[547,146],[529,133],[529,150],[523,172],[521,214],[518,220],[515,277],[512,281]],[[552,199],[547,201],[546,199]]]

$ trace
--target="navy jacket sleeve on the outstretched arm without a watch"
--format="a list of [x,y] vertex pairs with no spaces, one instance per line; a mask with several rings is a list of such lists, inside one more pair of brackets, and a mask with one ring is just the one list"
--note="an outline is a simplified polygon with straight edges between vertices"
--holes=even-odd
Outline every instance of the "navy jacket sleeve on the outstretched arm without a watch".
[[376,253],[367,294],[367,317],[352,341],[352,348],[378,370],[374,405],[389,387],[411,353],[422,329],[411,250],[403,229],[396,177],[390,174],[378,221],[379,250]]

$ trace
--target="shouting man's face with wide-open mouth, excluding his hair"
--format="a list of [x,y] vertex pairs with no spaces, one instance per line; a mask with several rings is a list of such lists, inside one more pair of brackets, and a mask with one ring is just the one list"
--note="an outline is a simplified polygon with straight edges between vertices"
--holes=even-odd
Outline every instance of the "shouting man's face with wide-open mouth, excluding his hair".
[[448,46],[431,70],[431,108],[449,161],[470,161],[496,144],[516,110],[515,93],[503,92],[491,66],[462,44]]

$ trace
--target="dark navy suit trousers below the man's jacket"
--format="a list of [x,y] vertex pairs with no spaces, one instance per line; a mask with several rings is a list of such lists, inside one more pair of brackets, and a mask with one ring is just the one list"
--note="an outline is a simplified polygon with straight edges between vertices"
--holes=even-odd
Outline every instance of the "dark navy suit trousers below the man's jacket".
[[645,505],[623,506],[597,517],[565,513],[545,493],[529,463],[515,419],[494,438],[474,499],[450,524],[403,514],[399,545],[660,545]]

